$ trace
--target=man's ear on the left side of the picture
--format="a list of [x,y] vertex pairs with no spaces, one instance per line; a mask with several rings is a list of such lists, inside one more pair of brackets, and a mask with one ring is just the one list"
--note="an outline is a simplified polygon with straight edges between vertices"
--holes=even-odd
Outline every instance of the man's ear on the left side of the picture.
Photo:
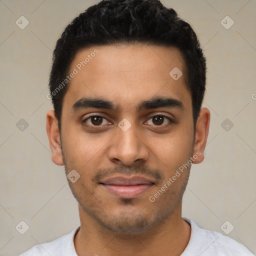
[[49,110],[47,112],[46,131],[52,152],[51,160],[57,165],[63,165],[64,162],[61,152],[60,132],[58,129],[58,120],[55,116],[54,110]]

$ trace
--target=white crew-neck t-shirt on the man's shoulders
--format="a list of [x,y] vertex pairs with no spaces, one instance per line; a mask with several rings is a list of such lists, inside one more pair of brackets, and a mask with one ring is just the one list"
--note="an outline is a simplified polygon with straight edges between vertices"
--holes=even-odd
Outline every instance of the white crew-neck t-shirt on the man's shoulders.
[[[255,256],[234,239],[217,231],[202,229],[191,219],[183,219],[190,224],[191,235],[180,256]],[[37,244],[19,256],[77,256],[73,238],[79,228],[51,242]],[[100,255],[100,251],[96,254]]]

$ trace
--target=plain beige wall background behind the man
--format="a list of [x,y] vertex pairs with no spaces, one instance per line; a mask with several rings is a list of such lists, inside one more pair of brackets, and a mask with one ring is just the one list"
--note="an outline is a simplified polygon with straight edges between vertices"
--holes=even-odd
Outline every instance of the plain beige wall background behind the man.
[[[46,94],[57,38],[96,2],[0,0],[0,255],[18,255],[79,225],[64,167],[51,161]],[[256,253],[256,1],[162,2],[191,24],[207,58],[210,130],[205,159],[191,168],[182,215],[222,233],[228,220],[228,236]],[[15,24],[21,15],[29,21],[24,29]],[[229,29],[220,23],[226,15],[234,21]],[[29,124],[23,131],[16,127],[21,118]],[[229,131],[221,126],[226,118],[234,124]],[[15,229],[21,220],[29,226],[23,235]]]

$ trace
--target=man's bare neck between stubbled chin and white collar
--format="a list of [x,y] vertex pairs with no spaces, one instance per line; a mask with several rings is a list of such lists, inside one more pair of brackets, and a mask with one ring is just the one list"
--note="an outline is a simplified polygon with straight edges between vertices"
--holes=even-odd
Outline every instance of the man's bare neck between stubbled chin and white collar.
[[190,225],[181,218],[181,201],[164,221],[140,233],[117,233],[102,227],[79,205],[81,226],[74,237],[78,256],[180,255],[190,238]]

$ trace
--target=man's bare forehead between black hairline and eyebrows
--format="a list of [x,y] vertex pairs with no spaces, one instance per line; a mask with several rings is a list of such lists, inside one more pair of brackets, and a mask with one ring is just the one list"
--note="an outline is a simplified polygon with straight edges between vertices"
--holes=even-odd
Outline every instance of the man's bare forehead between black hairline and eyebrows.
[[[98,97],[112,101],[119,110],[131,109],[155,96],[170,96],[189,107],[184,67],[182,54],[175,47],[136,43],[81,49],[70,64],[68,73],[75,75],[69,81],[63,108],[70,109],[82,97]],[[183,74],[173,79],[172,70],[178,76]]]

